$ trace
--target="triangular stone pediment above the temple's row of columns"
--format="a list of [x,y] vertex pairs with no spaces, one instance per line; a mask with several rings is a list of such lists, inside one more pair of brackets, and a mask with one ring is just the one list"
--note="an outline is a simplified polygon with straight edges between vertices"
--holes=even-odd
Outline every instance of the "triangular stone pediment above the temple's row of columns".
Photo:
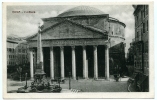
[[[83,39],[83,38],[105,38],[103,32],[92,27],[86,27],[70,21],[63,21],[44,30],[41,34],[42,40],[49,39]],[[37,35],[30,40],[37,40]]]

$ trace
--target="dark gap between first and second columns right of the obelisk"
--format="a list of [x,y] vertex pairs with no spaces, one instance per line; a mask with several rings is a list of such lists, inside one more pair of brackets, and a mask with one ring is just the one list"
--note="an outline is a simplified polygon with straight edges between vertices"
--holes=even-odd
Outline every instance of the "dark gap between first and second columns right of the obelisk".
[[60,47],[54,47],[54,77],[57,79],[61,75],[61,68],[60,68]]

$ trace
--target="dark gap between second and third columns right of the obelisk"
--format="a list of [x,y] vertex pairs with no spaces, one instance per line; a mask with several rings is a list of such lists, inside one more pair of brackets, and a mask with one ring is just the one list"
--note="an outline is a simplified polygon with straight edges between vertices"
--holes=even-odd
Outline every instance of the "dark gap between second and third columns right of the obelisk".
[[71,46],[64,47],[64,71],[65,77],[69,76],[69,72],[72,74],[72,52]]

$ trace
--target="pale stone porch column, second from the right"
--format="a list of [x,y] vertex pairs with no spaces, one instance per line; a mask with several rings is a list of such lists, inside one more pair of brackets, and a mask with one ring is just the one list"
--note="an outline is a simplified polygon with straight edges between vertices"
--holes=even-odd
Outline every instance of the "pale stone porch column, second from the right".
[[98,78],[97,46],[94,46],[94,78]]

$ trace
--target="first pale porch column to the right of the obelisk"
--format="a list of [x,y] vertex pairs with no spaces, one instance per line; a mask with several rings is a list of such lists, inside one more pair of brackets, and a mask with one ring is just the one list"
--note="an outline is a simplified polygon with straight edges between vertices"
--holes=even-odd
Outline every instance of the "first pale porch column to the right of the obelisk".
[[53,55],[53,47],[50,47],[50,78],[54,79],[54,55]]

